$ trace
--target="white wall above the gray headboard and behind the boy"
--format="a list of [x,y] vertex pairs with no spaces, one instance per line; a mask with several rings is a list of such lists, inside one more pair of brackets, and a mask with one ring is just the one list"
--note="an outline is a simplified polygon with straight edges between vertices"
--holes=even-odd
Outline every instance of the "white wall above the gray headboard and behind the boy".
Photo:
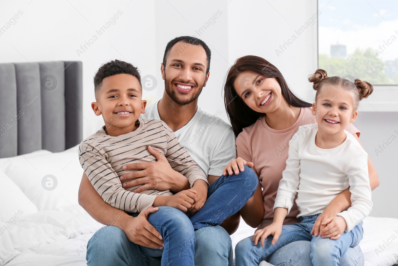
[[[137,65],[141,73],[154,72],[158,61],[154,53],[154,1],[68,1],[2,1],[0,27],[18,10],[23,15],[0,36],[0,63],[82,61],[86,137],[103,125],[90,107],[95,101],[93,77],[102,63],[120,59]],[[115,24],[102,35],[96,33],[118,10],[123,14]],[[78,55],[76,50],[94,34],[98,39]]]

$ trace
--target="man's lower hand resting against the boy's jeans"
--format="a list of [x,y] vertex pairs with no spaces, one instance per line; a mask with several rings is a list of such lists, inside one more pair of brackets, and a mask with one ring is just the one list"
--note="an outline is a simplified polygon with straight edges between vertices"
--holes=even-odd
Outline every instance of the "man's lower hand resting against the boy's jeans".
[[144,209],[137,217],[128,216],[121,221],[121,228],[127,238],[147,248],[163,248],[164,242],[160,233],[148,222],[148,215],[158,211],[152,206]]

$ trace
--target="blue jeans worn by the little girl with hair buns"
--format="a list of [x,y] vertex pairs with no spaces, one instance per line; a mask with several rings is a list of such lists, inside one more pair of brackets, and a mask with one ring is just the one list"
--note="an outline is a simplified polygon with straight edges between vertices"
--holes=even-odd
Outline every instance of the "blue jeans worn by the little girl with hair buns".
[[262,260],[279,248],[300,240],[311,241],[311,259],[314,266],[339,265],[339,260],[347,249],[357,246],[361,241],[363,237],[362,222],[353,230],[341,234],[338,240],[331,240],[310,234],[319,215],[320,213],[300,217],[300,223],[284,225],[281,236],[275,245],[271,244],[273,238],[271,235],[265,239],[263,247],[260,242],[257,246],[254,245],[253,236],[241,240],[235,248],[236,266],[258,266]]

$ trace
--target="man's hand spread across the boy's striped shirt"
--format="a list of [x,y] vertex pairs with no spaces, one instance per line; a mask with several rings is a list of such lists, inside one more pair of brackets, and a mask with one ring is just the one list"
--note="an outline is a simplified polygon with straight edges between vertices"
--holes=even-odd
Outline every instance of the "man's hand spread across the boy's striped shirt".
[[147,189],[171,190],[175,192],[189,189],[188,179],[181,173],[174,171],[163,154],[151,146],[148,146],[148,150],[156,157],[157,162],[134,163],[123,166],[123,170],[142,169],[122,175],[120,177],[122,181],[134,179],[123,183],[123,187],[141,185],[132,191],[135,193],[140,193]]

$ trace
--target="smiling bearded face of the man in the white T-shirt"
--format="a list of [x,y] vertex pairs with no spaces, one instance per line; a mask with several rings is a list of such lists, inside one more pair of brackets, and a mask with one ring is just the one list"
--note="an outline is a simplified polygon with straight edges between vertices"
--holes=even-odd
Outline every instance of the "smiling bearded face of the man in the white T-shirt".
[[161,65],[166,93],[180,105],[196,101],[206,86],[210,72],[206,73],[207,55],[201,45],[179,41],[170,49],[166,66]]

